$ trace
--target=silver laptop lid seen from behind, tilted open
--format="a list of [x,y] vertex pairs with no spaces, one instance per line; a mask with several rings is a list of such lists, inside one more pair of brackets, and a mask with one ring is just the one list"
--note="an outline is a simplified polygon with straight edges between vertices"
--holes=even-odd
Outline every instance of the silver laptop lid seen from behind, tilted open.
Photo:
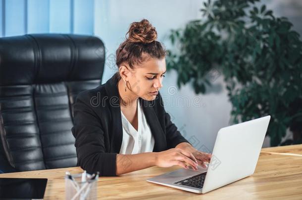
[[266,116],[218,131],[202,193],[253,174],[269,120]]

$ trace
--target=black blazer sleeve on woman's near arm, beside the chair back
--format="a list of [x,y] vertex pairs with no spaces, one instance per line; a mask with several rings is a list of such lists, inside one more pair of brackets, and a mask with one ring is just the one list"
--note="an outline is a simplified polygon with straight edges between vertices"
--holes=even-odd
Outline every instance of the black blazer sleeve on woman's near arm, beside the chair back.
[[[101,121],[90,104],[89,91],[81,92],[73,106],[78,164],[88,173],[100,172],[100,176],[115,176],[116,153],[108,153],[104,144]],[[101,111],[97,111],[101,112]]]

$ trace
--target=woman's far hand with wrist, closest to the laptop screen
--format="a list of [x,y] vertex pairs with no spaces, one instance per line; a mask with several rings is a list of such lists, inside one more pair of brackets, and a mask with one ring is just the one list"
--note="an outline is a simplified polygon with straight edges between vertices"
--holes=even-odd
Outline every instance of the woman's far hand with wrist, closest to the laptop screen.
[[206,168],[205,163],[209,163],[211,160],[211,156],[212,156],[211,154],[198,151],[191,144],[189,144],[187,142],[182,142],[182,143],[178,144],[175,148],[181,149],[181,150],[184,150],[184,151],[187,151],[187,152],[190,152],[191,154],[193,154],[193,156],[195,157],[195,159],[198,162],[198,165],[201,165],[203,168]]

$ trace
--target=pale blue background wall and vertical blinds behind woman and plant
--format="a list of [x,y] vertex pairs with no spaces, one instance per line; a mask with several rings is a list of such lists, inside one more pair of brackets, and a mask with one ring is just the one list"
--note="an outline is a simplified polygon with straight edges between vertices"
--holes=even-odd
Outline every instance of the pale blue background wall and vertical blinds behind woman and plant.
[[[117,68],[114,54],[124,40],[130,23],[143,18],[156,27],[158,40],[171,46],[168,33],[190,20],[201,17],[202,0],[0,0],[0,36],[9,37],[33,33],[72,33],[95,35],[106,47],[106,64],[102,82]],[[302,2],[300,0],[261,1],[276,16],[285,16],[302,34]],[[179,97],[192,99],[197,95],[190,85],[176,86],[177,74],[171,71],[161,89],[165,108],[181,133],[197,148],[212,150],[219,128],[229,125],[231,103],[228,100],[223,76],[214,74],[213,87],[198,95],[200,106],[177,105]],[[292,137],[290,131],[286,138]],[[264,142],[269,146],[269,138]]]

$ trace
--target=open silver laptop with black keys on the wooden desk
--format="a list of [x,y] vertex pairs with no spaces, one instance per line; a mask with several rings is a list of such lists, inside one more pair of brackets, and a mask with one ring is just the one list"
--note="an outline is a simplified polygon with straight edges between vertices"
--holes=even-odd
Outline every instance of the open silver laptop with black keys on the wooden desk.
[[206,168],[178,169],[148,179],[193,193],[207,193],[254,173],[270,116],[221,128]]

